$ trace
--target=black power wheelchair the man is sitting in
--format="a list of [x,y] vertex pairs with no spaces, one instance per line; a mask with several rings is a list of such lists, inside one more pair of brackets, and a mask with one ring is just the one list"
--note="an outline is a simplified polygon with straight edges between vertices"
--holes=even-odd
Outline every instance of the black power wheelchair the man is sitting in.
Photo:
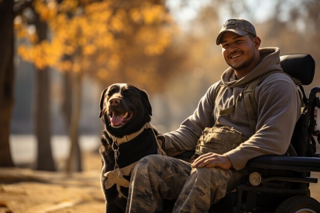
[[[320,172],[320,153],[316,153],[320,122],[316,124],[315,120],[315,110],[320,108],[316,97],[320,87],[314,87],[307,98],[302,86],[313,81],[315,62],[308,54],[289,54],[281,56],[280,64],[286,73],[300,80],[298,87],[304,104],[291,138],[289,155],[265,155],[249,160],[248,179],[214,204],[209,212],[320,213],[320,203],[310,197],[309,190],[309,183],[317,183],[317,178],[310,177],[310,173]],[[187,159],[192,154],[185,152],[177,158]],[[173,204],[174,201],[165,200],[162,212],[171,212]]]

